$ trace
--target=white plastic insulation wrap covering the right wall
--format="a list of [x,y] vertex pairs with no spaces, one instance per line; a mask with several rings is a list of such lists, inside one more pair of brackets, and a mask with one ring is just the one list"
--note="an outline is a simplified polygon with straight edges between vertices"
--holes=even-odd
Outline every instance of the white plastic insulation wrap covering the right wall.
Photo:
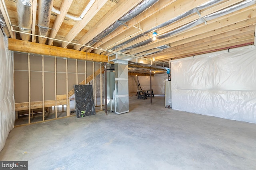
[[172,109],[256,123],[256,47],[171,61]]

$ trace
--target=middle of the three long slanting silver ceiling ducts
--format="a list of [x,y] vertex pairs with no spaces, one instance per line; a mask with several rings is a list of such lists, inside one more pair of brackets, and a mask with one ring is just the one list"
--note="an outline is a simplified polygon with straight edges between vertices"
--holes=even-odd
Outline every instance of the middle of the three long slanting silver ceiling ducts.
[[[222,0],[211,0],[211,1],[208,1],[208,2],[206,2],[206,3],[204,3],[204,4],[200,5],[200,6],[196,7],[196,8],[197,8],[198,10],[202,10],[202,9],[204,9],[204,8],[206,8],[206,7],[212,6],[213,4],[216,4],[216,3],[221,2],[221,1],[222,1]],[[189,10],[189,11],[187,11],[187,12],[184,12],[183,14],[181,14],[181,15],[179,15],[179,16],[176,16],[175,18],[172,18],[172,19],[170,19],[170,20],[168,20],[168,21],[166,21],[166,22],[164,22],[164,23],[162,23],[162,24],[160,24],[160,25],[158,25],[158,26],[156,26],[156,27],[153,27],[152,29],[149,29],[148,31],[145,31],[144,33],[142,33],[142,34],[140,34],[140,35],[137,35],[136,37],[133,37],[133,38],[131,38],[131,39],[129,39],[129,40],[127,40],[127,41],[125,41],[125,42],[119,44],[119,45],[116,45],[116,46],[112,47],[111,50],[115,50],[115,49],[117,49],[117,48],[119,48],[119,47],[122,47],[123,45],[126,45],[126,44],[128,44],[128,43],[134,41],[135,39],[138,39],[138,38],[144,36],[145,34],[150,33],[151,31],[154,31],[154,30],[156,30],[156,29],[159,29],[159,28],[165,27],[165,26],[167,26],[167,25],[170,25],[171,23],[174,23],[174,22],[176,22],[176,21],[178,21],[178,20],[180,20],[180,19],[182,19],[182,18],[185,18],[186,16],[189,16],[189,15],[195,13],[195,12],[196,12],[196,11],[195,11],[194,9]],[[148,41],[148,42],[149,42],[149,41]],[[150,42],[152,42],[152,41],[150,41]],[[150,43],[150,42],[149,42],[149,43]],[[125,51],[125,50],[122,50],[122,51]]]

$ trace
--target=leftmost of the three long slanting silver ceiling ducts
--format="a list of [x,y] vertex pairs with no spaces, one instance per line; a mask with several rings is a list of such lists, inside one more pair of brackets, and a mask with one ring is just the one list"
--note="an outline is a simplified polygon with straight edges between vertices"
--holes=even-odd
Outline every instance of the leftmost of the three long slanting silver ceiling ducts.
[[107,29],[102,31],[99,35],[94,37],[91,41],[89,41],[86,45],[92,46],[97,41],[100,41],[100,39],[106,37],[108,34],[112,33],[116,28],[118,28],[120,25],[123,25],[124,23],[128,22],[132,18],[138,16],[140,13],[142,13],[144,10],[148,9],[150,6],[155,4],[158,0],[144,0],[140,2],[136,7],[132,8],[129,12],[124,14],[119,20],[117,20],[115,23],[110,25]]

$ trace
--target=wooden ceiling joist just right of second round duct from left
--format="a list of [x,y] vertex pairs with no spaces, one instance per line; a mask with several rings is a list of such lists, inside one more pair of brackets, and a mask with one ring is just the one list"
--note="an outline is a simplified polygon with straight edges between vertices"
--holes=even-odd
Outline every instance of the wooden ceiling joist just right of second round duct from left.
[[[50,32],[50,38],[55,38],[62,22],[65,19],[66,14],[68,13],[68,10],[70,8],[70,5],[72,4],[73,0],[63,0],[60,5],[60,14],[56,16],[56,19],[54,21],[54,24],[52,26],[52,30]],[[53,39],[48,39],[48,45],[52,45]]]

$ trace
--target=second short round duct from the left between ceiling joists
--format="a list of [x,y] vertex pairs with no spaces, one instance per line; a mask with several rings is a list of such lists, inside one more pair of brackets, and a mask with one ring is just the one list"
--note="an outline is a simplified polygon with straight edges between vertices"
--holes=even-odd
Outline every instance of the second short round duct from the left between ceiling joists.
[[[38,30],[39,35],[44,37],[48,36],[52,6],[53,0],[38,1]],[[38,41],[41,44],[45,44],[46,40],[46,38],[38,37]]]

